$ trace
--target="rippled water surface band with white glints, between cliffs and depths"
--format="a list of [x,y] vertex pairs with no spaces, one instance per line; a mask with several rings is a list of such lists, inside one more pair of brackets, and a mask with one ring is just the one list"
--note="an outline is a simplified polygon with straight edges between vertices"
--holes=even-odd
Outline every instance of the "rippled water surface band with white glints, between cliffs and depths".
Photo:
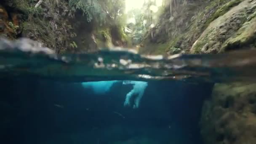
[[148,56],[124,48],[56,54],[34,41],[0,40],[1,77],[42,77],[67,82],[99,80],[254,81],[256,51]]

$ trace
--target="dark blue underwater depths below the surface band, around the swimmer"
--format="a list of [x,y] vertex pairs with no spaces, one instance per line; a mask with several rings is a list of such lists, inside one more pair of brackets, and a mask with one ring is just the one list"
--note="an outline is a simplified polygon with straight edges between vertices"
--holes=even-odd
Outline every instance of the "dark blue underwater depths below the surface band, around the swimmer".
[[[95,96],[80,84],[1,80],[6,144],[201,144],[203,99],[211,84],[150,82],[139,109],[123,107],[128,87]],[[119,141],[119,143],[118,143]]]

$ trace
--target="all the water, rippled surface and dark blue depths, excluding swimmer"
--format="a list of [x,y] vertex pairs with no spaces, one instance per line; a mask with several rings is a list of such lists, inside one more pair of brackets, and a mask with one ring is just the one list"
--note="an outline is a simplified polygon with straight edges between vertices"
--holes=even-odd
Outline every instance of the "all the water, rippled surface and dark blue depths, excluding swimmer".
[[[141,56],[124,50],[56,55],[37,43],[0,40],[3,144],[203,144],[200,114],[213,83],[254,81],[255,51]],[[235,59],[234,59],[235,57]],[[81,82],[148,82],[138,109],[131,85],[104,95]]]

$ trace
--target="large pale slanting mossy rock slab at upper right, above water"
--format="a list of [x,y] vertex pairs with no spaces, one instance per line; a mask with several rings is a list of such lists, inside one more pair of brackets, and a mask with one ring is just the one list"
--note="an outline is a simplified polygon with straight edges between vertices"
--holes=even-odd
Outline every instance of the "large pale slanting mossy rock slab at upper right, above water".
[[[231,5],[229,3],[223,7]],[[192,46],[190,53],[221,53],[254,43],[255,16],[255,0],[244,0],[213,20]]]

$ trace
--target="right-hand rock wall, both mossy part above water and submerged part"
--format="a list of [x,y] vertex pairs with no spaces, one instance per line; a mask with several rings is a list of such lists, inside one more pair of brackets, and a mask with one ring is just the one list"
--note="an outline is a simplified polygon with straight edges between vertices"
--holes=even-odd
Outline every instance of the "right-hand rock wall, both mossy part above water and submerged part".
[[[256,0],[194,0],[174,11],[173,19],[169,11],[163,13],[149,32],[155,37],[144,38],[141,53],[225,53],[256,47]],[[254,83],[214,85],[200,121],[205,144],[255,143],[255,89]]]

